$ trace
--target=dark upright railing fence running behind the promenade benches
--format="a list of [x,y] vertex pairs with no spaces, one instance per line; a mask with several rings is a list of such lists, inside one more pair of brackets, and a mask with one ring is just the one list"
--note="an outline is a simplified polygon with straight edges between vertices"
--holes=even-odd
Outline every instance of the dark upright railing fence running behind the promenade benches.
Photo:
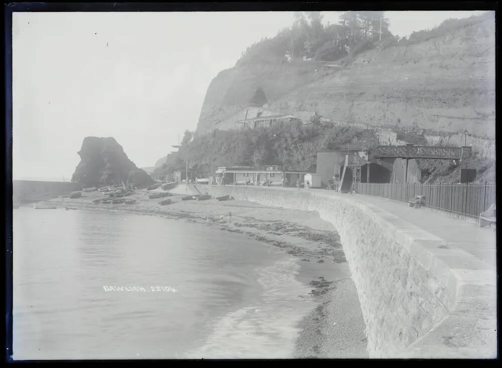
[[496,185],[495,183],[426,185],[361,182],[358,183],[356,192],[403,202],[423,195],[427,207],[477,218],[481,212],[495,204]]

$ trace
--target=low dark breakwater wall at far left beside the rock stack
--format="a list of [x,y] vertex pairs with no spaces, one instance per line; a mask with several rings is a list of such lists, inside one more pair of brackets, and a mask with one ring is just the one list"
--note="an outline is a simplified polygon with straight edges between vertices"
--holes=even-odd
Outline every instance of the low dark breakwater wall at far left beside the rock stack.
[[14,204],[48,200],[82,190],[79,183],[65,181],[13,180],[12,187]]

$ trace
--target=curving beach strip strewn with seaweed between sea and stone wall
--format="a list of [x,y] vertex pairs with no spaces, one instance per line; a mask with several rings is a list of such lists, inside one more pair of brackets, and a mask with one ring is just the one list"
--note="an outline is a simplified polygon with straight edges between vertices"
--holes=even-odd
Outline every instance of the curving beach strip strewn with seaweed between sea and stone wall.
[[[160,191],[159,191],[160,192]],[[298,321],[294,346],[297,358],[364,358],[367,339],[355,285],[351,279],[339,236],[332,224],[314,212],[271,208],[245,201],[215,199],[182,201],[185,194],[171,191],[172,204],[162,206],[149,195],[136,191],[128,198],[135,204],[95,204],[99,192],[79,198],[54,198],[44,202],[58,208],[150,215],[219,227],[278,247],[295,258],[300,271],[295,278],[312,288],[314,307]],[[298,296],[305,298],[305,296]]]

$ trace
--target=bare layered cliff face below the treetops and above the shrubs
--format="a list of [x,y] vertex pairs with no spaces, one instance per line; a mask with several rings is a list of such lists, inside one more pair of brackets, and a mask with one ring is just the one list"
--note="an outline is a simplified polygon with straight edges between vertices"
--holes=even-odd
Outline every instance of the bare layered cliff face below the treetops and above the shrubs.
[[[445,32],[446,33],[446,32]],[[323,65],[324,64],[324,65]],[[417,44],[371,49],[350,63],[238,65],[211,82],[197,126],[216,128],[241,111],[261,86],[268,108],[302,119],[332,120],[494,137],[494,20]],[[224,127],[223,127],[224,126]]]

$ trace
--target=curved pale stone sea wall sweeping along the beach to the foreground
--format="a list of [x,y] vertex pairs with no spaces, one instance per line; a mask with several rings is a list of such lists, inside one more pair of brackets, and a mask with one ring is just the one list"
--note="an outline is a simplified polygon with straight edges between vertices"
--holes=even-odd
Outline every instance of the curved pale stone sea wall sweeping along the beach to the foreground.
[[[316,211],[337,229],[370,357],[496,356],[496,275],[479,259],[357,197],[198,186],[265,206]],[[480,269],[481,268],[481,269]]]

